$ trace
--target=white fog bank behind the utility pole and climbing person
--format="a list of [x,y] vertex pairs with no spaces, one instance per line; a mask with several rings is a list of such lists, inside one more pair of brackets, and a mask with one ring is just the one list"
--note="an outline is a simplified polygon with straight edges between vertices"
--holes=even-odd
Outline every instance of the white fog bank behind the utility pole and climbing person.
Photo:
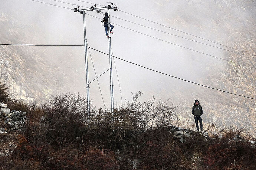
[[[76,5],[86,7],[93,6],[93,4],[83,3],[76,0],[65,1],[74,4],[73,6],[52,0],[39,1],[67,8],[74,8]],[[90,1],[103,5],[106,3],[106,1],[103,0]],[[236,37],[230,38],[230,30],[226,27],[227,25],[235,27],[235,29],[242,32],[245,37],[249,35],[255,36],[255,32],[248,33],[246,27],[244,27],[255,27],[255,6],[247,7],[246,10],[244,10],[243,5],[245,3],[243,1],[210,0],[204,2],[201,0],[129,0],[113,2],[120,10],[127,13],[147,18],[148,20],[161,23],[168,27],[212,41],[217,41],[220,44],[225,44],[231,47],[237,47],[236,44],[238,43],[235,39]],[[248,4],[250,3],[255,5],[255,2],[248,1]],[[10,17],[12,20],[9,22],[17,24],[17,28],[24,28],[27,30],[27,35],[24,35],[24,39],[15,39],[11,34],[8,35],[10,40],[12,40],[11,43],[83,44],[83,16],[79,12],[75,13],[66,8],[50,6],[30,0],[1,0],[0,6],[2,15],[12,16]],[[220,10],[221,8],[223,8],[223,10]],[[121,11],[111,10],[110,12],[111,16],[116,16],[171,34],[223,48],[223,46],[142,20]],[[86,13],[103,18],[102,14],[96,13],[96,11],[88,11]],[[222,21],[220,21],[220,18],[225,16],[229,16],[229,18],[231,16],[233,20],[226,20],[226,23],[221,23]],[[188,81],[198,82],[214,88],[221,88],[221,86],[216,85],[216,79],[218,79],[221,74],[228,71],[229,65],[226,61],[181,48],[164,41],[224,59],[229,59],[230,52],[141,27],[114,17],[111,17],[110,19],[111,23],[114,25],[114,34],[111,36],[114,56],[166,74],[187,79]],[[136,33],[123,27],[116,26],[115,24],[148,34],[152,37],[157,37],[164,41]],[[101,25],[101,20],[86,15],[86,35],[89,47],[108,53],[108,38],[106,38],[105,29]],[[1,41],[1,43],[6,42]],[[73,69],[78,71],[78,74],[73,75],[70,79],[77,79],[79,81],[74,84],[65,84],[64,80],[65,90],[61,91],[62,93],[79,92],[86,94],[83,47],[33,47],[33,49],[35,48],[40,48],[47,53],[47,56],[49,57],[47,58],[47,62],[52,63],[52,67],[61,68],[65,72],[65,68],[68,66],[63,63],[67,63],[68,61]],[[108,55],[93,50],[90,50],[90,52],[96,74],[100,75],[109,68]],[[242,58],[244,58],[244,56],[242,56]],[[88,63],[89,81],[91,81],[96,76],[93,71],[89,53]],[[157,101],[160,99],[162,101],[169,99],[169,101],[173,102],[175,105],[181,105],[179,106],[179,110],[183,112],[190,109],[182,106],[185,101],[192,106],[194,99],[200,100],[211,98],[211,96],[216,93],[225,98],[230,97],[230,95],[224,95],[221,92],[209,90],[198,85],[171,78],[170,76],[152,72],[118,59],[115,59],[115,65],[121,86],[123,102],[125,102],[125,100],[131,100],[132,93],[142,91],[144,92],[144,95],[142,95],[141,101],[151,99],[153,96]],[[122,104],[122,101],[116,70],[113,62],[114,102],[116,106],[119,106]],[[63,72],[61,74],[63,74]],[[212,79],[213,82],[211,82],[209,75],[215,76],[215,79]],[[50,75],[46,75],[46,78],[47,76],[50,78]],[[61,77],[59,77],[59,79],[61,79]],[[98,81],[105,104],[107,108],[109,108],[109,72],[106,72],[99,77]],[[94,81],[89,86],[90,98],[93,100],[93,105],[97,107],[103,106],[97,82]],[[223,90],[229,91],[230,89]],[[202,92],[205,96],[201,96]],[[234,98],[237,100],[244,100],[239,97]]]

